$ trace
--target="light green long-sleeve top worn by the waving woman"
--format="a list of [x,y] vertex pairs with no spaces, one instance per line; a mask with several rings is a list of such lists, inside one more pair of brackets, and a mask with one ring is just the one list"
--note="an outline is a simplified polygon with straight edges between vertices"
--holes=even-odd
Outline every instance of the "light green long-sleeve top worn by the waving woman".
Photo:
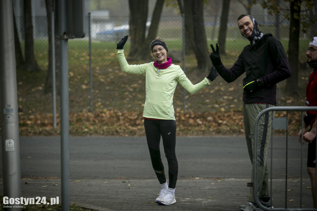
[[158,69],[153,63],[129,65],[123,50],[116,50],[121,70],[125,73],[146,75],[146,99],[143,117],[175,120],[173,96],[177,83],[194,94],[210,84],[207,78],[193,85],[179,65]]

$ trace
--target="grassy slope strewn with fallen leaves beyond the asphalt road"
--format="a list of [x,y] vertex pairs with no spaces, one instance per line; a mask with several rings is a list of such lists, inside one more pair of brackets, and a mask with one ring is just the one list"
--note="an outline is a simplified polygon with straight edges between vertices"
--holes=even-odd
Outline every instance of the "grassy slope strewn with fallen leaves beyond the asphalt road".
[[[90,111],[90,87],[87,66],[70,61],[69,134],[70,136],[145,136],[142,111],[145,101],[145,77],[125,74],[113,52],[104,64],[93,65],[93,112]],[[87,59],[81,54],[82,61]],[[105,59],[106,60],[106,59]],[[225,60],[225,59],[224,59]],[[102,61],[100,61],[102,62]],[[143,62],[129,61],[130,64]],[[195,70],[189,59],[188,78],[197,83],[208,73]],[[180,64],[181,65],[181,64]],[[225,65],[228,66],[229,65]],[[309,68],[300,71],[297,94],[288,94],[285,81],[280,84],[281,106],[302,106]],[[174,109],[178,136],[243,136],[242,79],[228,84],[220,76],[196,94],[183,93],[178,85]],[[20,136],[57,136],[60,134],[60,96],[57,95],[57,127],[53,128],[52,94],[44,93],[46,71],[17,72]],[[185,104],[184,104],[185,101]],[[185,111],[184,111],[185,105]],[[278,112],[276,116],[286,116]],[[297,135],[301,113],[290,113],[289,134]],[[280,133],[280,132],[278,132]]]

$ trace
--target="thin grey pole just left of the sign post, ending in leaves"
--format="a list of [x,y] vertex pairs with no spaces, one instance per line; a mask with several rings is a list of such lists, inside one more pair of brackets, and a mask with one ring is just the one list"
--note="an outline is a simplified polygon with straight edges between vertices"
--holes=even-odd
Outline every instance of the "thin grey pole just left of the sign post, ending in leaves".
[[53,128],[56,128],[56,77],[55,77],[55,27],[54,27],[54,0],[52,0],[52,89],[53,89]]

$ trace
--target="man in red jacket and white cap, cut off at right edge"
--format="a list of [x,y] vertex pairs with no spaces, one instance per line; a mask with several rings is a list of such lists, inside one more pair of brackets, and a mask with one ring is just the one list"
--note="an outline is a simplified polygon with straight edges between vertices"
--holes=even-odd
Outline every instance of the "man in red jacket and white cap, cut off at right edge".
[[[307,63],[309,67],[314,68],[309,76],[306,86],[306,106],[317,106],[317,37],[314,37],[308,45],[306,52]],[[315,201],[315,168],[316,168],[316,111],[307,111],[304,117],[305,127],[299,131],[298,140],[300,143],[303,141],[308,144],[307,155],[307,171],[312,183],[312,193],[314,207],[316,208]],[[307,131],[307,128],[310,129]],[[303,139],[302,139],[303,137]]]

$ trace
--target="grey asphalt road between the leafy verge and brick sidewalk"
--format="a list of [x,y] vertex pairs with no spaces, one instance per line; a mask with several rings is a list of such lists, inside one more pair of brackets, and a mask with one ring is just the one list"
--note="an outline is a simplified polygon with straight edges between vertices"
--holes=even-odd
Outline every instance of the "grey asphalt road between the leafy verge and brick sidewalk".
[[[307,144],[297,137],[273,138],[268,154],[273,178],[306,172]],[[20,137],[22,177],[61,177],[60,137]],[[286,150],[286,147],[288,150]],[[286,152],[288,159],[286,160]],[[1,154],[3,153],[1,149]],[[167,162],[161,143],[162,160]],[[251,162],[244,137],[177,137],[178,177],[250,178]],[[2,158],[2,155],[1,155]],[[2,165],[0,166],[2,173]],[[145,137],[69,137],[70,179],[155,179]]]

